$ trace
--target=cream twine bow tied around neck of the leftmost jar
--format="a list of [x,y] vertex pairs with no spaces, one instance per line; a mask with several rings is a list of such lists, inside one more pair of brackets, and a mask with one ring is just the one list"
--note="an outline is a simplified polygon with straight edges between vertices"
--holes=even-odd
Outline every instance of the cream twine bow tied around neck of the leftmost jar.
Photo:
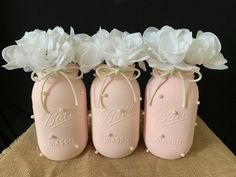
[[80,68],[78,66],[69,66],[65,69],[60,69],[60,70],[47,70],[46,72],[42,72],[42,77],[38,77],[38,73],[36,72],[32,72],[31,73],[31,79],[35,82],[39,82],[39,81],[43,81],[43,85],[42,85],[42,88],[41,88],[41,104],[42,104],[42,107],[44,109],[45,112],[49,112],[46,108],[46,105],[44,103],[44,99],[43,99],[43,89],[44,89],[44,86],[47,82],[47,80],[50,78],[50,77],[54,77],[54,76],[58,76],[58,75],[61,75],[63,76],[68,84],[70,85],[71,87],[71,90],[72,90],[72,93],[73,93],[73,96],[74,96],[74,100],[75,100],[75,105],[78,106],[78,99],[77,99],[77,96],[76,96],[76,92],[75,92],[75,88],[71,82],[70,79],[81,79],[83,77],[83,72],[80,71],[80,75],[79,76],[76,76],[76,77],[72,77],[72,76],[67,76],[67,74],[70,74],[73,70],[78,70],[80,71]]

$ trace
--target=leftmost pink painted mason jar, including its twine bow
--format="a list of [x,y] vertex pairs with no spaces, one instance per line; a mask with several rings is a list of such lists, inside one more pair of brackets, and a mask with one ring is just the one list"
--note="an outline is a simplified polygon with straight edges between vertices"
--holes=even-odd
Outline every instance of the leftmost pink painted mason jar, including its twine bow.
[[40,155],[67,160],[87,145],[86,89],[78,69],[38,74],[32,103]]

